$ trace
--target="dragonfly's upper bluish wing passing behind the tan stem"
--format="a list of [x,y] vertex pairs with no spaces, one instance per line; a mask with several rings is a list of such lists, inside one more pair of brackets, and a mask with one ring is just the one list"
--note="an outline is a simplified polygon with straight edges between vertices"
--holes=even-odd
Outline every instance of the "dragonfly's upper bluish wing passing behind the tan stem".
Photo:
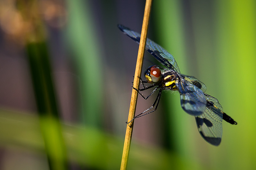
[[[128,35],[131,39],[133,39],[139,44],[140,33],[132,31],[129,28],[122,25],[117,25],[117,26],[123,33]],[[171,70],[176,71],[177,73],[180,73],[178,64],[175,61],[174,57],[168,51],[162,48],[160,45],[156,44],[150,39],[147,39],[145,48],[151,55],[155,57],[155,59],[157,59],[166,68],[169,68]]]

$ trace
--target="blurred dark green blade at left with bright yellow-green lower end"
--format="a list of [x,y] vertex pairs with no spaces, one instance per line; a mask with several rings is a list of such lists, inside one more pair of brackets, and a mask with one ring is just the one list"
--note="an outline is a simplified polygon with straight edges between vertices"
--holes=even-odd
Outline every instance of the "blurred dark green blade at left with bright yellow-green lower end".
[[28,42],[27,52],[50,169],[67,169],[65,145],[59,126],[59,112],[45,41]]

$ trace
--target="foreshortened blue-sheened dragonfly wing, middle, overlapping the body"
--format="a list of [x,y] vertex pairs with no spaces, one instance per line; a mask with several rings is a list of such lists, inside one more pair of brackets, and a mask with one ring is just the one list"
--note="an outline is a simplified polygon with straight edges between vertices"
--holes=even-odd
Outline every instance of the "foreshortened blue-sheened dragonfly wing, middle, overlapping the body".
[[180,105],[190,115],[201,115],[206,107],[204,93],[196,85],[180,76],[175,82],[180,93]]

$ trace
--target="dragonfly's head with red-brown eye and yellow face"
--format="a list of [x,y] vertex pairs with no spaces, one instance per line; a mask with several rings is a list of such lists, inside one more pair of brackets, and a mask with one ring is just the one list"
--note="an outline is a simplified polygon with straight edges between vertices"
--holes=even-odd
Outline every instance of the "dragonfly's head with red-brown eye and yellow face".
[[162,73],[159,67],[156,65],[150,66],[144,73],[148,83],[155,84],[159,83],[162,78]]

